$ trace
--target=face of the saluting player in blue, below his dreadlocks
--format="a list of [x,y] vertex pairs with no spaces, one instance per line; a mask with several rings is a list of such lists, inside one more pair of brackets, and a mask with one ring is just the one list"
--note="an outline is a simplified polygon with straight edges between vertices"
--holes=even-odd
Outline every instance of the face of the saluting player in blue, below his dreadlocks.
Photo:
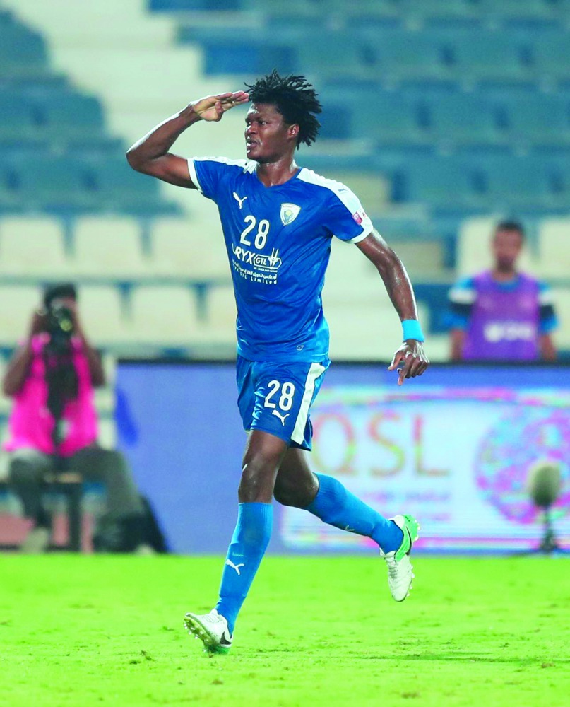
[[287,125],[271,103],[252,103],[245,118],[245,151],[249,160],[275,162],[297,144],[297,125]]

